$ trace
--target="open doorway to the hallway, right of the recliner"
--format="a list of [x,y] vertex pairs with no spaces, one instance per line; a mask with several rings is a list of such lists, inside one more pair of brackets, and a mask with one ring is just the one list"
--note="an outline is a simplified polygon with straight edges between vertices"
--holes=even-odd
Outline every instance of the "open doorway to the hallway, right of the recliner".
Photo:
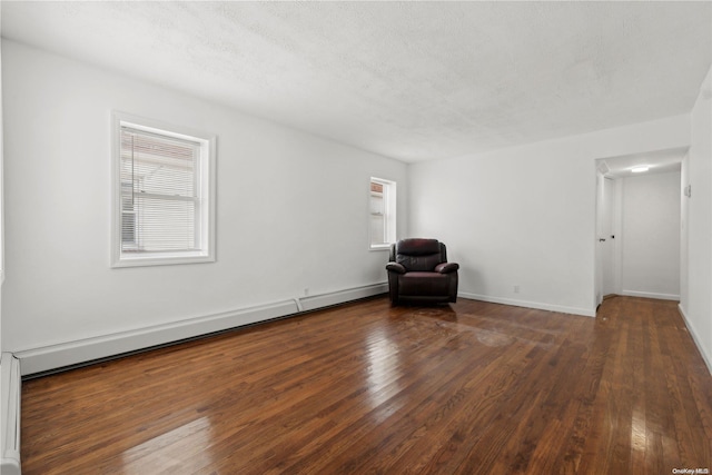
[[609,295],[680,298],[685,154],[676,148],[596,160],[596,305]]

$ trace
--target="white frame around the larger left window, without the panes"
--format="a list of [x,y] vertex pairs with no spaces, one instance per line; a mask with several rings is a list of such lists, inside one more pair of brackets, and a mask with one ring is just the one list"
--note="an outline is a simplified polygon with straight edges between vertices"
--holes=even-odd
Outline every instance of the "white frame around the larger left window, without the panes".
[[[141,251],[123,253],[121,250],[121,128],[130,127],[167,138],[188,140],[199,145],[196,185],[198,206],[197,246],[192,250],[177,251]],[[112,229],[111,229],[111,267],[165,266],[175,264],[212,263],[215,261],[215,216],[216,216],[216,136],[186,127],[168,125],[158,120],[146,119],[125,112],[113,111],[112,132]]]

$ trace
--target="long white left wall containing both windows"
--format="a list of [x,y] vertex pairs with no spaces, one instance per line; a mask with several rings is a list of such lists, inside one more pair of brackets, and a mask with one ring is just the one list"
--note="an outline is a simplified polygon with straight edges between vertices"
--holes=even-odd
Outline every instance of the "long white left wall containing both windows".
[[[6,350],[386,280],[368,184],[405,197],[405,164],[7,40],[2,61]],[[110,268],[113,109],[217,133],[217,263]]]

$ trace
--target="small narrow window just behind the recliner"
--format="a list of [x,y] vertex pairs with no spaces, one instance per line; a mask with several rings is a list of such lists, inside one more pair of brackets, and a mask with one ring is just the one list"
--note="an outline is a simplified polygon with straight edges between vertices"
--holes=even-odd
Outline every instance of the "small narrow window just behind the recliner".
[[396,241],[396,182],[370,179],[370,248],[387,249]]

